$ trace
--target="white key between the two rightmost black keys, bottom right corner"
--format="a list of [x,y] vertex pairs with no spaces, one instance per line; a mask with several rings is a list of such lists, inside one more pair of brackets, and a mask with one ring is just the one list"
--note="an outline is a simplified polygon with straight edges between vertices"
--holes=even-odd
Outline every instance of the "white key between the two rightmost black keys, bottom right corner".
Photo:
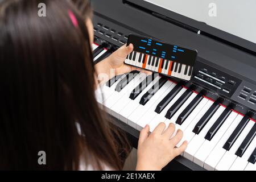
[[250,143],[249,147],[246,149],[245,153],[242,155],[241,158],[237,158],[232,166],[230,167],[230,171],[242,171],[246,168],[248,159],[250,158],[251,153],[253,152],[254,148],[256,147],[256,138]]

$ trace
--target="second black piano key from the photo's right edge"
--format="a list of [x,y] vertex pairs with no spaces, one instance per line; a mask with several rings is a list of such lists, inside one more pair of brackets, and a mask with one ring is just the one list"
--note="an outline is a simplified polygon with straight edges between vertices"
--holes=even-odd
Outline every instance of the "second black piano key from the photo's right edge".
[[245,153],[246,149],[250,145],[251,141],[254,139],[256,135],[256,123],[253,125],[245,139],[243,140],[241,146],[237,149],[236,155],[242,157],[243,153]]

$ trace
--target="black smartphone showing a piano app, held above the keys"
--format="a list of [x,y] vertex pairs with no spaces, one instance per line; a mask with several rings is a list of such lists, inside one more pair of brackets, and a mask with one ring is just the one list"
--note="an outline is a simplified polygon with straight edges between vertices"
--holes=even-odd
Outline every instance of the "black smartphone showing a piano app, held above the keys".
[[133,34],[129,35],[127,44],[130,43],[134,51],[127,56],[126,64],[183,80],[191,79],[197,56],[195,49]]

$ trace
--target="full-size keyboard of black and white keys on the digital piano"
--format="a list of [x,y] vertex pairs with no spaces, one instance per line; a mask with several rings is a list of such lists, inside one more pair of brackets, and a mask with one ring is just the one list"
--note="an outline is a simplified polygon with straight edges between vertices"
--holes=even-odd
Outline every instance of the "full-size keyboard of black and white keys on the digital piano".
[[[92,49],[94,61],[111,53],[97,44]],[[207,170],[256,170],[255,121],[181,83],[132,71],[98,88],[96,99],[102,109],[138,131],[145,125],[152,131],[160,122],[174,123],[184,133],[177,146],[188,141],[182,156]]]

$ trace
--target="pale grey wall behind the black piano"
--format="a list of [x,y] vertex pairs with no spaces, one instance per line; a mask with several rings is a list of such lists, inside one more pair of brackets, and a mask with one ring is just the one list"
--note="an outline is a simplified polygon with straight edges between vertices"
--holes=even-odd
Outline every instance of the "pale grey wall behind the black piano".
[[[256,43],[255,0],[144,0]],[[209,10],[216,5],[216,16]],[[213,15],[213,14],[211,14]]]

